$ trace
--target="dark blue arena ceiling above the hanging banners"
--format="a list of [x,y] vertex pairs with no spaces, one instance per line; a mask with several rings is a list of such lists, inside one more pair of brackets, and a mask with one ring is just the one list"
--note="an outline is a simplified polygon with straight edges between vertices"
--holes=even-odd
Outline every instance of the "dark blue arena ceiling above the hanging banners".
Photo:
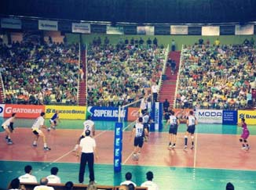
[[247,23],[255,0],[2,0],[0,16],[112,23]]

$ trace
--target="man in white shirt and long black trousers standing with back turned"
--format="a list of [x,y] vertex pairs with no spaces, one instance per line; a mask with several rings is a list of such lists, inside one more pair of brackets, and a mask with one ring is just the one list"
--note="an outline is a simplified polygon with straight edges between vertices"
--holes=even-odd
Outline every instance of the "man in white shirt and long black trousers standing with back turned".
[[79,169],[79,183],[83,182],[85,170],[86,170],[86,163],[88,163],[89,167],[89,177],[90,182],[94,181],[94,154],[97,160],[97,151],[96,151],[96,142],[95,139],[90,136],[90,130],[86,130],[86,137],[82,138],[80,141],[80,152],[81,153],[81,160],[80,160],[80,169]]

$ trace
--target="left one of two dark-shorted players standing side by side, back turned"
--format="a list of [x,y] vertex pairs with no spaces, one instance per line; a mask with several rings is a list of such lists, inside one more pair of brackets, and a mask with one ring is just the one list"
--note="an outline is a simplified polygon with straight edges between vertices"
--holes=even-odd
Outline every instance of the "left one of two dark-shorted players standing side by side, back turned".
[[[175,149],[176,145],[176,136],[177,136],[177,127],[180,124],[180,121],[177,117],[174,116],[174,111],[170,111],[169,120],[167,120],[166,124],[170,124],[169,128],[169,149]],[[171,144],[173,142],[173,145]]]

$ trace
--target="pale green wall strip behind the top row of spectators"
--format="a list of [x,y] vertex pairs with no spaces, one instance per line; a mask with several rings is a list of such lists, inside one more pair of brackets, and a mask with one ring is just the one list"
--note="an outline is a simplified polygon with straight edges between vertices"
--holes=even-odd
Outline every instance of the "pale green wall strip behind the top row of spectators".
[[[66,34],[68,42],[74,43],[79,42],[79,34]],[[101,42],[104,42],[105,36],[108,36],[111,44],[117,44],[120,38],[131,38],[139,39],[143,38],[144,41],[147,41],[148,38],[152,40],[157,38],[159,45],[170,45],[171,41],[174,39],[176,42],[177,50],[181,50],[182,45],[193,45],[198,42],[199,38],[203,38],[204,41],[209,39],[210,44],[214,44],[214,41],[218,38],[221,41],[221,44],[242,44],[244,39],[247,38],[249,41],[251,38],[254,38],[256,41],[255,35],[223,35],[223,36],[192,36],[192,35],[155,35],[155,36],[147,36],[147,35],[115,35],[115,34],[82,34],[82,40],[89,44],[93,41],[93,38],[101,37]]]

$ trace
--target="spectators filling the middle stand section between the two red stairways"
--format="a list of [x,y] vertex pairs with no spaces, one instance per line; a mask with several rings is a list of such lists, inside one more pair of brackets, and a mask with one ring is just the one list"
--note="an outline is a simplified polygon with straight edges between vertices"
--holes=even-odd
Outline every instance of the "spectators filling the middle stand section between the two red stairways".
[[[104,41],[108,42],[108,38]],[[95,38],[87,54],[89,106],[133,102],[143,97],[152,83],[159,82],[165,48],[144,45],[144,41],[137,45],[133,39],[130,42],[120,39],[117,45],[101,45],[100,42]]]

